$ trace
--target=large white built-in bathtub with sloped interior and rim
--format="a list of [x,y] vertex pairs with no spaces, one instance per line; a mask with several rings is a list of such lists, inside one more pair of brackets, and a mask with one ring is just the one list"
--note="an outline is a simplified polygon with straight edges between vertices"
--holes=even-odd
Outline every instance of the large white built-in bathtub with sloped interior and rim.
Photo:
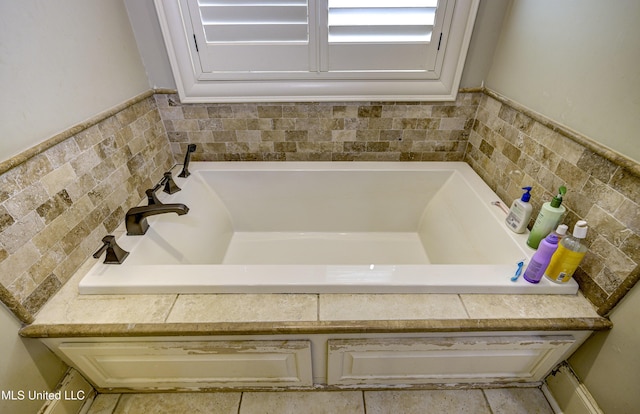
[[201,162],[189,170],[175,179],[182,191],[158,192],[189,213],[153,216],[145,235],[120,236],[128,258],[97,260],[80,293],[578,290],[573,280],[510,280],[534,251],[527,234],[506,228],[491,204],[498,197],[465,163]]

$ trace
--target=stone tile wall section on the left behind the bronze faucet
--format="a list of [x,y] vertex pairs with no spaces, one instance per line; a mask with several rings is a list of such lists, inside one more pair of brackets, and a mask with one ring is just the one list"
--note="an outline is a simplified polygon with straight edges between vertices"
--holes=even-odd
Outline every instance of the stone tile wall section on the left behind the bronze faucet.
[[0,299],[23,322],[174,164],[151,93],[122,107],[0,175]]

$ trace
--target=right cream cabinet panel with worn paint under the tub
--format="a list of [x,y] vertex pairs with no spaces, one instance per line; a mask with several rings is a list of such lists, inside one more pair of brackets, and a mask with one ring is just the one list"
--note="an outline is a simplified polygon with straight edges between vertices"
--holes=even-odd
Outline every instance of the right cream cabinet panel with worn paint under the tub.
[[328,383],[539,381],[574,341],[565,335],[329,340]]

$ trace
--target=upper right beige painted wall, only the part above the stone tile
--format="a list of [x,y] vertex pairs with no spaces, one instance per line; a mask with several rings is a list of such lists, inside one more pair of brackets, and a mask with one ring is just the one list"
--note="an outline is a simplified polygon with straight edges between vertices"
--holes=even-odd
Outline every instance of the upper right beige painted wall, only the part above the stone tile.
[[515,0],[486,85],[640,161],[640,2]]

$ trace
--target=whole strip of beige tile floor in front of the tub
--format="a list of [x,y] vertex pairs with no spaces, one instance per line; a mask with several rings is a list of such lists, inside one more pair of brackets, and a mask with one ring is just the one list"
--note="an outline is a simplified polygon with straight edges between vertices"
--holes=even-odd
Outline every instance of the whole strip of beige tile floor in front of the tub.
[[88,414],[553,414],[538,388],[100,394]]

